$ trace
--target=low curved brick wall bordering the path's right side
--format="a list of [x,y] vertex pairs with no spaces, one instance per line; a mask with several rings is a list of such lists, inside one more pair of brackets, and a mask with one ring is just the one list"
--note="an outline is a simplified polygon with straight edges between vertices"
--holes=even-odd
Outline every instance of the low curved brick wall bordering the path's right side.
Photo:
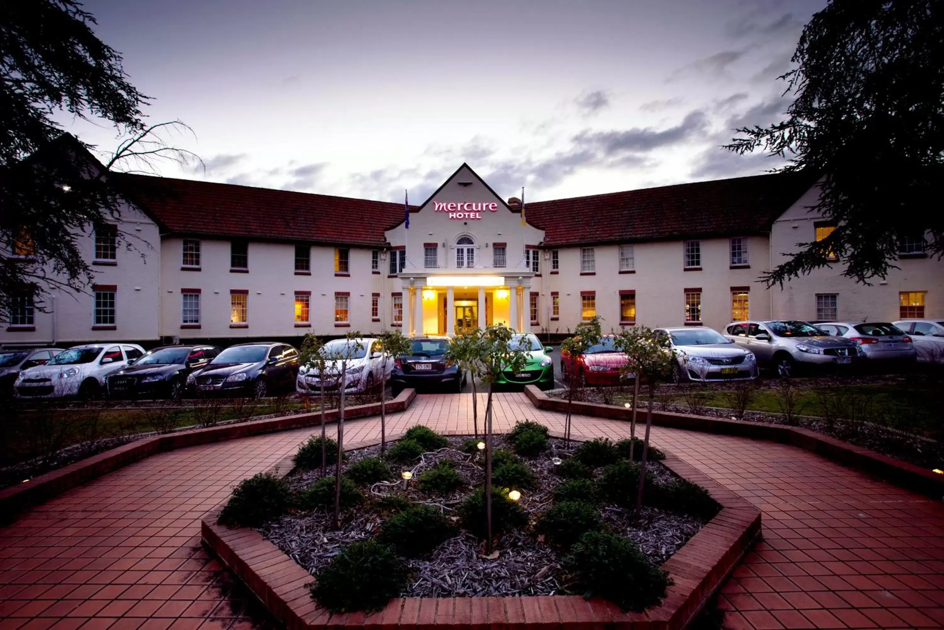
[[[566,400],[551,398],[533,385],[525,387],[525,394],[538,409],[547,409],[562,414],[567,411]],[[573,405],[574,413],[582,416],[606,417],[626,421],[629,421],[632,417],[632,409],[625,407],[577,401],[574,401]],[[640,412],[640,415],[645,423],[645,413]],[[638,420],[639,417],[636,418],[636,421]],[[934,499],[940,499],[944,496],[944,475],[801,427],[655,410],[652,411],[652,424],[672,429],[687,429],[709,434],[739,435],[741,437],[768,439],[781,444],[789,444],[805,451],[815,452],[843,466],[868,472],[892,484],[920,492]]]

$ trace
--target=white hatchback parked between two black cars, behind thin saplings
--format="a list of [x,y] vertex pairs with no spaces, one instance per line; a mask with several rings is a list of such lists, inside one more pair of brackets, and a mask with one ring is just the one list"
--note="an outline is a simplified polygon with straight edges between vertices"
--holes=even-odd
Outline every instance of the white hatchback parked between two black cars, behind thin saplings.
[[[335,339],[325,344],[321,353],[327,359],[324,374],[326,392],[339,389],[342,358],[347,363],[345,392],[363,394],[373,391],[380,383],[385,387],[394,369],[394,358],[388,357],[380,340],[373,337]],[[321,375],[315,366],[298,369],[295,391],[311,396],[321,394]]]

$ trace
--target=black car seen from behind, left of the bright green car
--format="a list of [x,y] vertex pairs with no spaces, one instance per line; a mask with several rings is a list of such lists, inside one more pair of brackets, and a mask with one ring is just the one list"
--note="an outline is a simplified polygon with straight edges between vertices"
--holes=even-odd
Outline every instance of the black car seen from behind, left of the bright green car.
[[462,391],[463,370],[446,360],[448,337],[411,337],[410,354],[396,357],[390,373],[390,389],[394,396],[407,387],[426,389],[443,387],[450,392]]

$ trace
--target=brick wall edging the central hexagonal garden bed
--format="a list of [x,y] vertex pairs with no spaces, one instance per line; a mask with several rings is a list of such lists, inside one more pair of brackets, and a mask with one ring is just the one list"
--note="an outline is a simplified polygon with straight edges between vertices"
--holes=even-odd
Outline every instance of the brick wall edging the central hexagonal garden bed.
[[[372,444],[351,444],[347,450],[367,446]],[[643,613],[624,613],[601,599],[541,596],[395,598],[371,615],[331,615],[312,599],[312,575],[256,530],[220,525],[216,510],[202,520],[201,536],[289,630],[678,630],[699,614],[760,536],[761,512],[670,453],[663,464],[708,490],[722,509],[666,561],[663,569],[674,584],[666,589],[662,604]],[[289,457],[270,471],[288,474],[292,468]]]

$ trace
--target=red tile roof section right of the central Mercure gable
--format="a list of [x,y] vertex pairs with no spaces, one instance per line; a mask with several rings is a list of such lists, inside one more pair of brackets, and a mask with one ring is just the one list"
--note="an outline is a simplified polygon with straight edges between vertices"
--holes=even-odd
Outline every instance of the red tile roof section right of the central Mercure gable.
[[805,173],[717,179],[539,201],[525,215],[549,247],[758,234],[815,181]]

